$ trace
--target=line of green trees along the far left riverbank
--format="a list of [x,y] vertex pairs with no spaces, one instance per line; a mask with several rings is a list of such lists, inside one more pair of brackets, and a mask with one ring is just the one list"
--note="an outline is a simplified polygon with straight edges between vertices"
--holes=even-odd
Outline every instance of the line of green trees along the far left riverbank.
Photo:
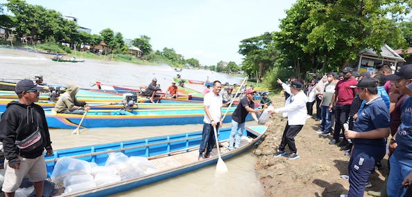
[[[5,8],[12,13],[6,15]],[[129,46],[138,47],[145,59],[149,62],[167,63],[173,66],[200,67],[198,59],[185,59],[183,55],[176,53],[173,48],[163,48],[155,50],[151,46],[151,37],[140,35],[135,39],[126,39],[121,32],[114,32],[110,28],[105,28],[99,34],[89,34],[78,31],[79,26],[75,21],[65,19],[60,12],[46,9],[42,6],[31,5],[24,0],[8,0],[7,3],[0,4],[0,27],[8,30],[6,35],[10,39],[29,44],[58,43],[70,44],[71,48],[79,49],[81,45],[89,45],[90,50],[104,41],[108,45],[108,50],[104,54],[126,54]],[[11,30],[14,30],[10,33]],[[10,34],[9,34],[10,33]],[[19,38],[19,39],[17,39]],[[239,71],[240,68],[234,62],[230,62],[230,68],[218,66],[205,66],[218,72]],[[234,66],[233,66],[234,64]]]

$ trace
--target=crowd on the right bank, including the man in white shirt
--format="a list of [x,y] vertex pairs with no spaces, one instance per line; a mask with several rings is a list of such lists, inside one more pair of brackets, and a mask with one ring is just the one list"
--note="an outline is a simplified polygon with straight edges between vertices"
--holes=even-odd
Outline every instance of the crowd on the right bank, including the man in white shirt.
[[[357,75],[345,67],[340,75],[327,73],[319,81],[312,79],[305,86],[294,77],[284,83],[285,106],[272,113],[287,118],[282,142],[274,156],[300,158],[294,137],[304,120],[321,120],[316,133],[331,136],[329,144],[341,147],[350,156],[347,166],[350,189],[347,195],[363,196],[370,173],[381,167],[388,144],[390,168],[381,191],[372,196],[412,196],[407,190],[412,183],[412,64],[392,74],[387,64],[377,72]],[[316,116],[313,113],[316,102]],[[315,117],[312,117],[315,116]],[[390,135],[390,140],[388,137]],[[388,142],[389,141],[389,142]],[[285,145],[289,147],[286,154]]]

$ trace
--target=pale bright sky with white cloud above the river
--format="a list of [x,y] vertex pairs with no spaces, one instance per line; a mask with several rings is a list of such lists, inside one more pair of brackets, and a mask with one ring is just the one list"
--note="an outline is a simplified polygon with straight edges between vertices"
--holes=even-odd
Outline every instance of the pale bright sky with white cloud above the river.
[[[4,3],[5,0],[0,0]],[[279,30],[289,0],[26,0],[26,3],[76,17],[98,34],[105,28],[126,39],[151,37],[153,50],[173,48],[200,64],[241,64],[240,41]]]

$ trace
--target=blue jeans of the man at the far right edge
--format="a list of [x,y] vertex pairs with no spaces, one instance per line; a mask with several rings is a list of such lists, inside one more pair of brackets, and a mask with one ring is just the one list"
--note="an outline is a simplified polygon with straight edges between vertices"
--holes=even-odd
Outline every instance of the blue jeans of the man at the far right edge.
[[395,158],[395,156],[390,156],[389,162],[390,171],[388,177],[388,185],[386,187],[388,196],[404,196],[404,194],[406,193],[406,189],[400,186],[402,185],[402,181],[404,180],[404,178],[408,176],[409,173],[411,173],[412,166],[401,164]]

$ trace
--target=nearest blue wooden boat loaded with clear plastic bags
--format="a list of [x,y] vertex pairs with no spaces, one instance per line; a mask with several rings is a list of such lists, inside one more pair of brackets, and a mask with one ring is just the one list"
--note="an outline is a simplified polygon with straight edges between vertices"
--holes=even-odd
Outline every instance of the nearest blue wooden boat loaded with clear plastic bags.
[[[266,126],[247,127],[242,136],[241,146],[239,149],[233,149],[232,151],[225,148],[228,147],[228,142],[223,141],[229,138],[231,129],[220,129],[218,140],[223,144],[223,148],[221,148],[221,158],[227,160],[238,156],[240,153],[253,147],[254,144],[258,144],[262,140],[266,129]],[[109,196],[149,185],[160,180],[166,180],[209,165],[216,165],[218,160],[216,149],[212,151],[210,158],[198,160],[198,147],[201,138],[202,132],[198,131],[126,142],[55,150],[53,151],[53,156],[46,157],[46,169],[50,177],[56,160],[60,160],[60,158],[63,157],[96,162],[98,166],[104,166],[108,159],[108,153],[119,152],[124,153],[128,157],[141,156],[148,158],[148,161],[155,165],[157,171],[153,173],[123,178],[123,180],[118,182],[88,187],[68,194],[62,194],[62,191],[65,189],[62,188],[62,184],[55,184],[55,189],[58,191],[56,196]]]

